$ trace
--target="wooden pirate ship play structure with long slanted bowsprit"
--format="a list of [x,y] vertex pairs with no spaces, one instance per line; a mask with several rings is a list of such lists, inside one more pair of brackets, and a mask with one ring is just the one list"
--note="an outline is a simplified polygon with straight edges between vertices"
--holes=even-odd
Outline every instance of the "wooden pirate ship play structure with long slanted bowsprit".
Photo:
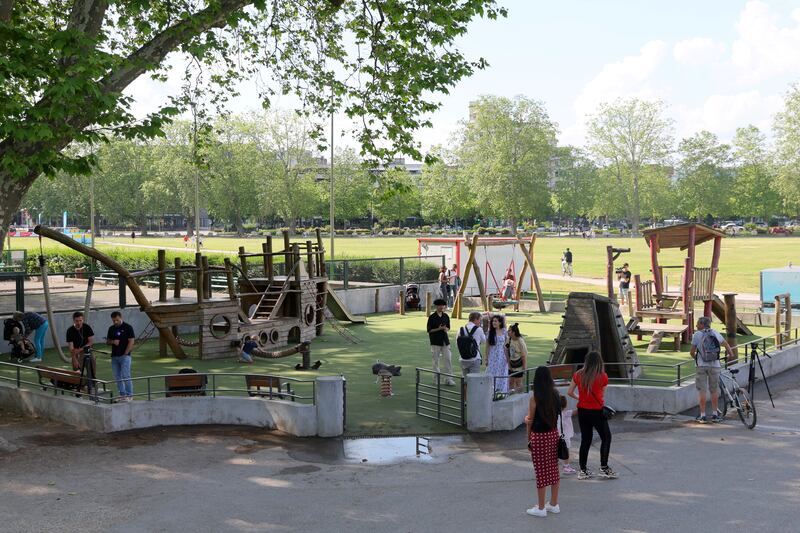
[[[114,271],[151,321],[140,340],[157,331],[162,356],[171,351],[176,358],[185,359],[184,348],[196,347],[201,359],[235,357],[243,340],[255,336],[265,356],[302,353],[302,367],[306,368],[308,343],[322,334],[326,323],[339,331],[339,319],[364,322],[363,317],[352,316],[328,286],[319,230],[316,242],[304,243],[292,243],[289,233],[284,232],[282,250],[273,250],[272,237],[266,238],[258,253],[248,253],[240,247],[239,264],[225,258],[224,265],[210,265],[207,256],[197,253],[194,264],[186,265],[175,258],[174,265],[168,266],[166,251],[158,250],[157,267],[138,272],[130,272],[114,259],[59,231],[37,226],[34,232]],[[255,261],[261,263],[257,268]],[[212,277],[224,277],[226,295],[212,292]],[[144,279],[155,281],[157,300],[151,301],[142,290],[140,281]],[[188,284],[193,286],[194,294],[189,292]],[[197,332],[196,340],[181,337],[181,333],[193,330]]]

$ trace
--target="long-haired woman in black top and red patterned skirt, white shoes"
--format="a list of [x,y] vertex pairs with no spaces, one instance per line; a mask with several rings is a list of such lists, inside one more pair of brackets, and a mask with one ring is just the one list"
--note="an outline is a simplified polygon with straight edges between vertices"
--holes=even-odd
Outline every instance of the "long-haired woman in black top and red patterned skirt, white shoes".
[[[537,506],[526,513],[532,516],[547,516],[547,512],[558,514],[558,487],[561,477],[558,472],[558,417],[561,399],[556,392],[550,369],[540,366],[533,374],[533,394],[528,403],[525,425],[528,428],[528,448],[531,450],[533,470],[536,472]],[[547,487],[550,501],[545,503]]]

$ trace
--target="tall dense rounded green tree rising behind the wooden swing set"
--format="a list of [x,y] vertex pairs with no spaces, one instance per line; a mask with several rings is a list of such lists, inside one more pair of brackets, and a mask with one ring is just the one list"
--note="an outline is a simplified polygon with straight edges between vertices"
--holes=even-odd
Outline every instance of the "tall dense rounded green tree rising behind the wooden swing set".
[[546,215],[556,126],[544,106],[518,96],[484,96],[470,105],[459,161],[482,215],[517,221]]

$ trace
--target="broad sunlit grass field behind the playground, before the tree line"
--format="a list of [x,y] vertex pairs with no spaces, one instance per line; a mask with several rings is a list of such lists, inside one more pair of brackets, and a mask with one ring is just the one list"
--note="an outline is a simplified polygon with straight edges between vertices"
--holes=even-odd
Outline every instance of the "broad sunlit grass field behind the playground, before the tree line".
[[[107,240],[105,238],[101,239]],[[113,242],[129,245],[129,238],[109,239]],[[297,239],[304,241],[305,239]],[[261,239],[237,239],[212,237],[204,239],[206,250],[235,251],[239,246],[244,246],[248,251],[260,251]],[[328,243],[326,239],[326,245]],[[47,244],[47,243],[46,243]],[[183,241],[178,238],[149,238],[137,237],[135,244],[138,246],[176,247],[183,248]],[[38,239],[12,238],[12,248],[27,248],[38,251]],[[605,247],[631,248],[631,252],[618,259],[622,264],[627,261],[631,264],[634,273],[643,277],[649,276],[649,252],[643,238],[608,238],[608,239],[581,239],[578,237],[542,237],[537,240],[534,250],[534,259],[540,272],[550,274],[561,273],[561,253],[569,247],[575,257],[575,275],[602,279],[605,277]],[[47,244],[47,249],[56,249],[61,245]],[[113,245],[101,244],[100,249],[111,248]],[[120,246],[122,247],[122,246]],[[396,257],[417,254],[417,240],[414,237],[337,237],[337,257]],[[682,265],[685,252],[679,250],[664,250],[660,254],[662,265]],[[785,266],[789,261],[800,264],[800,237],[736,237],[726,238],[723,241],[720,271],[717,277],[718,291],[734,291],[745,293],[758,293],[759,271],[764,268]],[[711,263],[711,243],[705,243],[698,248],[697,264],[706,266]],[[680,282],[680,270],[671,269],[669,284],[675,287]],[[542,289],[545,295],[548,291],[583,290],[572,288],[574,284],[567,281],[542,280]],[[591,287],[591,286],[587,286]],[[603,292],[602,287],[593,287],[593,291]]]

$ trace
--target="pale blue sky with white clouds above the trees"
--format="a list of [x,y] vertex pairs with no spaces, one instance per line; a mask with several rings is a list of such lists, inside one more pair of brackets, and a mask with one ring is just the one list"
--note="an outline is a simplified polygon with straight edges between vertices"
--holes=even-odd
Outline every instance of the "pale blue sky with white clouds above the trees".
[[[468,58],[489,67],[442,96],[433,128],[418,132],[423,150],[447,144],[468,105],[480,95],[524,95],[544,103],[558,124],[559,143],[582,146],[587,119],[620,97],[659,99],[676,138],[701,130],[730,141],[754,124],[769,134],[783,95],[800,80],[797,0],[499,0],[501,20],[477,20],[458,40]],[[143,115],[180,86],[137,80],[129,88]],[[255,85],[240,87],[234,112],[259,106]],[[273,106],[291,108],[284,97]],[[354,145],[347,121],[337,137]]]

